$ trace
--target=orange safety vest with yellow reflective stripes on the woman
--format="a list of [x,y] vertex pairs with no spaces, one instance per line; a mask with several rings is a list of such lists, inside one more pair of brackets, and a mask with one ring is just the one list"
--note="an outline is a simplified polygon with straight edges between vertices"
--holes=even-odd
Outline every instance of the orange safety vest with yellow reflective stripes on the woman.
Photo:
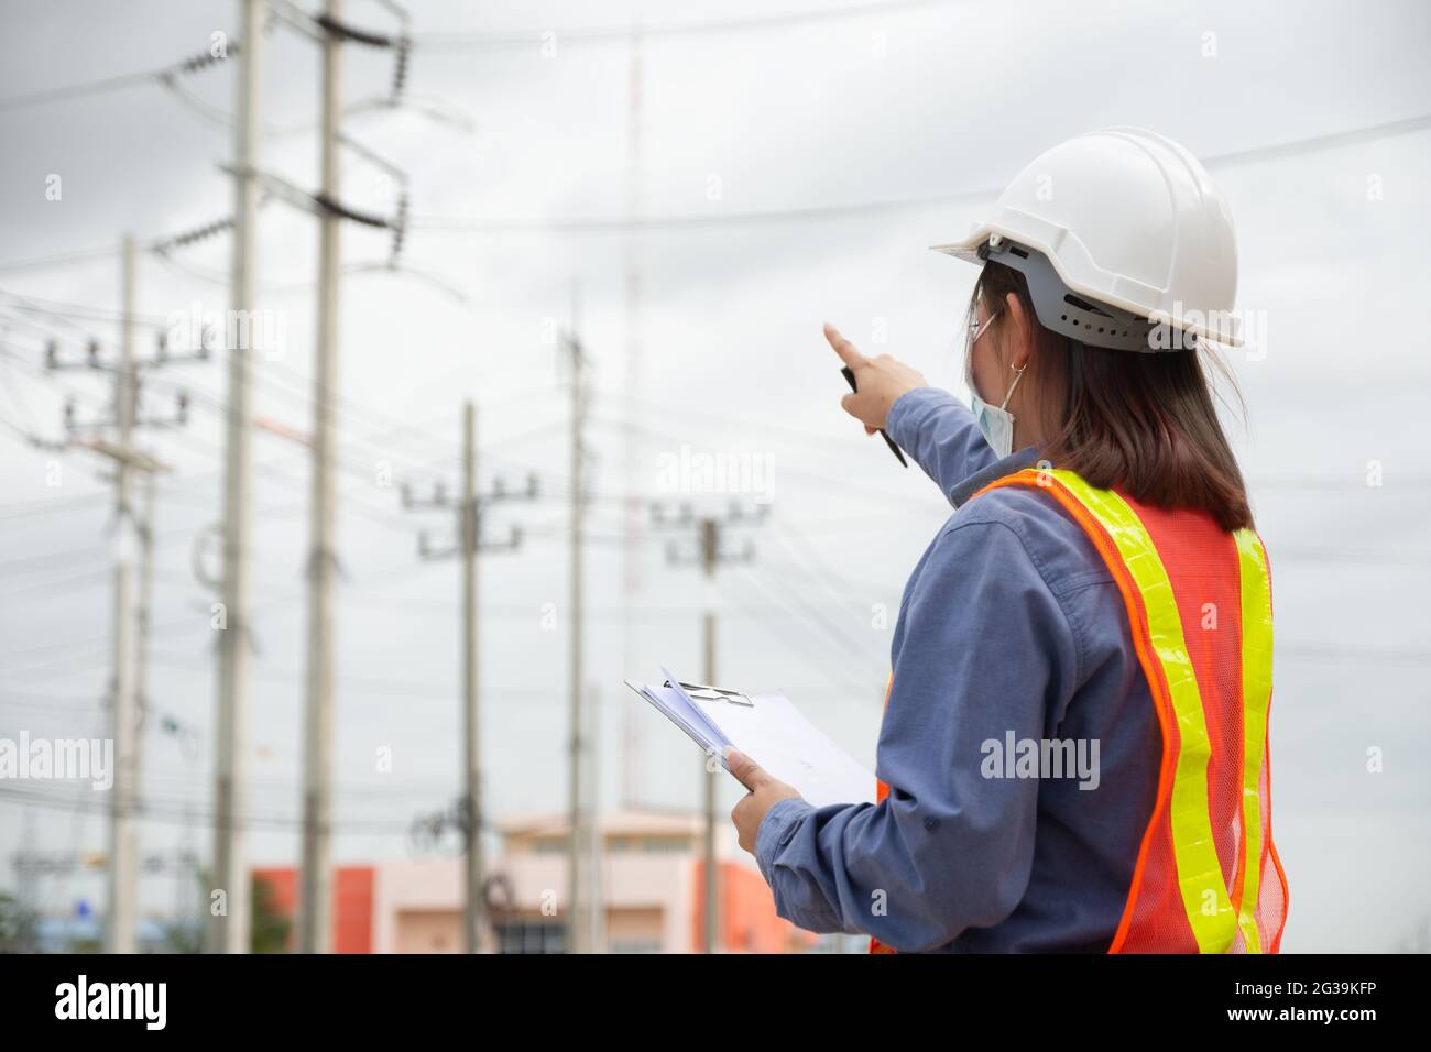
[[[1288,893],[1272,843],[1272,581],[1261,538],[1070,471],[1027,468],[975,497],[1005,485],[1043,490],[1093,541],[1162,729],[1158,800],[1109,953],[1276,953]],[[880,781],[876,799],[887,794]],[[893,953],[874,939],[870,952]]]

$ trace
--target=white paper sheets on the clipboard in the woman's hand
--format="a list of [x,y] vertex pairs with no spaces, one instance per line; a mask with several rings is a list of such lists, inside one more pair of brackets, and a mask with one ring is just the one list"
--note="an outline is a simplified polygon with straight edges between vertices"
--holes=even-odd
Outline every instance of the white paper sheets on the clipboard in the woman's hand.
[[[664,668],[661,671],[665,671]],[[734,746],[816,807],[874,803],[874,774],[806,720],[778,691],[741,693],[681,683],[625,684],[707,753]],[[726,766],[721,757],[721,766]],[[727,767],[728,770],[728,767]]]

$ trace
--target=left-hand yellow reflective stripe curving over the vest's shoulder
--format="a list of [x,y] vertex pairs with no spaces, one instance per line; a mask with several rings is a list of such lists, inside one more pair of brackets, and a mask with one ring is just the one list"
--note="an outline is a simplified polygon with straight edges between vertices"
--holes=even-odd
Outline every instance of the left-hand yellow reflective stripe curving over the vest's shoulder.
[[1198,950],[1225,953],[1236,933],[1236,916],[1212,839],[1208,803],[1212,744],[1208,740],[1202,696],[1183,640],[1172,581],[1142,521],[1122,497],[1112,490],[1095,490],[1072,471],[1053,469],[1046,474],[1058,479],[1103,525],[1142,595],[1148,637],[1162,664],[1173,717],[1178,720],[1178,766],[1169,802],[1178,889]]

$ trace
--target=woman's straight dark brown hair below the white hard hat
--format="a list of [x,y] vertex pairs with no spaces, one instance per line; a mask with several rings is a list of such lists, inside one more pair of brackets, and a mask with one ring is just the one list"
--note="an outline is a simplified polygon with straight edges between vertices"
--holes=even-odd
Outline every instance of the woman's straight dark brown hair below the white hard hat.
[[[1037,325],[1023,275],[997,262],[986,262],[979,275],[970,318],[980,298],[997,311],[1010,292],[1035,322],[1032,368],[1023,382],[1035,384],[1045,417],[1045,459],[1143,504],[1205,511],[1224,530],[1252,525],[1242,471],[1218,421],[1198,349],[1142,354],[1085,346]],[[1211,359],[1236,391],[1225,364]]]

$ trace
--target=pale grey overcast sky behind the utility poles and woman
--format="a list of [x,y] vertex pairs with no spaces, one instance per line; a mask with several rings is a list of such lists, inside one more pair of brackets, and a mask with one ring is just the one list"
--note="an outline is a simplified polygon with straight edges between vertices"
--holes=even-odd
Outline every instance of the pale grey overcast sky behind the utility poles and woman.
[[[458,792],[456,564],[416,555],[416,531],[442,542],[451,520],[404,512],[396,482],[456,484],[465,398],[479,406],[484,481],[537,471],[547,487],[537,504],[494,512],[495,534],[519,522],[529,535],[482,562],[488,802],[498,817],[564,806],[570,401],[550,335],[568,323],[574,288],[595,388],[587,673],[602,806],[700,800],[698,754],[621,686],[663,664],[701,676],[698,573],[667,565],[674,535],[643,531],[630,565],[621,540],[627,487],[701,505],[661,492],[661,457],[683,445],[758,457],[771,479],[768,522],[730,534],[756,560],[721,574],[718,680],[786,690],[873,767],[893,625],[871,625],[879,604],[893,618],[947,507],[841,414],[820,323],[966,394],[954,348],[975,269],[927,246],[960,236],[989,203],[980,192],[1053,143],[1143,125],[1208,159],[1236,222],[1238,306],[1262,331],[1231,358],[1248,418],[1229,428],[1275,577],[1285,949],[1391,949],[1431,923],[1431,9],[936,0],[771,19],[801,7],[411,7],[408,106],[361,106],[386,96],[391,56],[345,53],[346,132],[406,173],[404,262],[421,275],[356,271],[342,288],[339,862],[405,856],[408,822]],[[394,26],[371,1],[352,0],[348,17]],[[207,52],[218,31],[238,34],[238,4],[210,0],[4,0],[0,19],[0,99],[162,69]],[[638,63],[620,31],[634,23],[651,30]],[[661,31],[673,26],[684,29]],[[581,31],[592,29],[617,31]],[[318,177],[316,57],[282,23],[266,40],[262,163],[305,187]],[[185,76],[185,97],[150,82],[0,106],[0,736],[104,727],[110,487],[96,458],[23,437],[59,438],[69,396],[80,419],[107,412],[102,378],[47,376],[40,364],[50,338],[70,358],[90,338],[114,346],[122,235],[147,245],[230,213],[220,165],[235,73]],[[1358,129],[1381,130],[1318,142]],[[1248,155],[1284,143],[1304,146]],[[396,187],[345,155],[353,208],[391,215]],[[621,223],[633,215],[651,222],[633,230]],[[258,365],[258,411],[305,432],[316,226],[273,200],[259,249],[260,306],[286,342]],[[343,230],[346,263],[388,250],[384,233]],[[172,312],[228,305],[228,265],[226,235],[167,260],[142,255],[145,354]],[[185,736],[157,719],[146,734],[155,816],[143,836],[146,852],[207,856],[212,597],[193,564],[219,517],[225,376],[218,362],[170,365],[153,374],[147,408],[167,412],[176,386],[193,396],[187,428],[143,435],[172,467],[159,487],[149,696]],[[298,849],[308,462],[270,434],[255,454],[260,829],[249,850],[285,865]],[[1382,484],[1368,485],[1377,469]],[[391,774],[375,770],[378,749],[392,750]],[[1367,771],[1368,749],[1384,750],[1381,773]],[[21,843],[104,847],[93,796],[43,792],[44,807],[0,792],[0,886],[13,886]],[[728,806],[734,783],[726,793]],[[41,905],[102,892],[49,882]],[[146,880],[150,909],[173,896]]]

